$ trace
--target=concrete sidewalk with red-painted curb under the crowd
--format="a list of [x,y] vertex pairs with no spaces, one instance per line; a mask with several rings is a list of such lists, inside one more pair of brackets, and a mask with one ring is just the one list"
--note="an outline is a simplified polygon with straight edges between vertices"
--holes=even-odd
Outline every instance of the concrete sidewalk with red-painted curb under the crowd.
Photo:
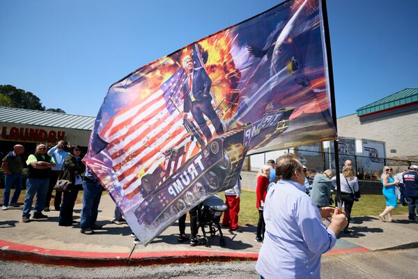
[[[79,221],[81,204],[75,206]],[[0,212],[0,259],[28,260],[47,264],[76,266],[114,266],[129,264],[162,264],[254,260],[261,243],[255,241],[256,227],[242,225],[243,232],[223,229],[225,247],[219,246],[219,236],[209,237],[210,247],[178,243],[177,223],[167,228],[152,243],[134,245],[127,225],[114,225],[114,203],[104,195],[99,206],[98,224],[104,225],[93,235],[80,233],[79,224],[59,227],[58,211],[50,211],[45,220],[22,223],[22,207]],[[352,234],[341,234],[329,255],[366,252],[389,248],[418,246],[418,224],[406,216],[396,216],[397,223],[382,223],[376,217],[354,218]],[[189,232],[189,229],[186,229]]]

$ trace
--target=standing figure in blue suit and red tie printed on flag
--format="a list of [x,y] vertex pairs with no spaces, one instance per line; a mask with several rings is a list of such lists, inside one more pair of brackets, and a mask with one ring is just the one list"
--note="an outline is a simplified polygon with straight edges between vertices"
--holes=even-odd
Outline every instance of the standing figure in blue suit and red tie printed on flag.
[[183,84],[184,117],[187,117],[188,112],[192,112],[194,120],[201,128],[206,141],[209,142],[212,138],[212,133],[206,124],[203,114],[212,122],[217,135],[224,133],[222,123],[215,110],[213,110],[211,103],[210,86],[212,85],[212,80],[210,80],[203,67],[194,68],[192,57],[185,56],[182,62],[183,68],[187,72],[187,79],[185,84]]

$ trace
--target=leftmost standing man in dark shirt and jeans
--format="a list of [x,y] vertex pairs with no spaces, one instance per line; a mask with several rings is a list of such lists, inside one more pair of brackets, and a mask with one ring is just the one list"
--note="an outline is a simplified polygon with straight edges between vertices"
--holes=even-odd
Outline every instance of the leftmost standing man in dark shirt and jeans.
[[13,183],[15,184],[15,192],[13,193],[11,206],[19,206],[17,199],[19,198],[20,191],[22,190],[22,169],[23,163],[20,157],[24,153],[24,147],[20,144],[13,146],[13,151],[10,151],[6,157],[3,158],[1,168],[3,169],[6,179],[3,193],[3,207],[2,210],[6,210],[9,206],[10,190]]

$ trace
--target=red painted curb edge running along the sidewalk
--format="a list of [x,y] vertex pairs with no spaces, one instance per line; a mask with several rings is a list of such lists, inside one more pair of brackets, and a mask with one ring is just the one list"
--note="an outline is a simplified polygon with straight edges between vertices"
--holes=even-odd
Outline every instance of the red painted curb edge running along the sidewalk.
[[[331,250],[325,255],[350,252],[369,252],[363,247]],[[0,259],[26,261],[37,264],[65,266],[148,266],[153,264],[185,264],[198,262],[256,261],[258,253],[222,251],[173,251],[173,252],[82,252],[54,250],[0,240]]]

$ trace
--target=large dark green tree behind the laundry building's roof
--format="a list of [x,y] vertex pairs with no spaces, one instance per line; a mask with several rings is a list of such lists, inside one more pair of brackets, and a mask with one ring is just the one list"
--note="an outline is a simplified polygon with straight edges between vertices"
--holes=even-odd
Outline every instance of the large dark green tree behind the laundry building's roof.
[[[35,94],[22,89],[17,89],[13,85],[0,85],[1,105],[4,107],[17,107],[27,110],[45,110],[45,107],[40,102]],[[10,100],[10,102],[8,101]]]

